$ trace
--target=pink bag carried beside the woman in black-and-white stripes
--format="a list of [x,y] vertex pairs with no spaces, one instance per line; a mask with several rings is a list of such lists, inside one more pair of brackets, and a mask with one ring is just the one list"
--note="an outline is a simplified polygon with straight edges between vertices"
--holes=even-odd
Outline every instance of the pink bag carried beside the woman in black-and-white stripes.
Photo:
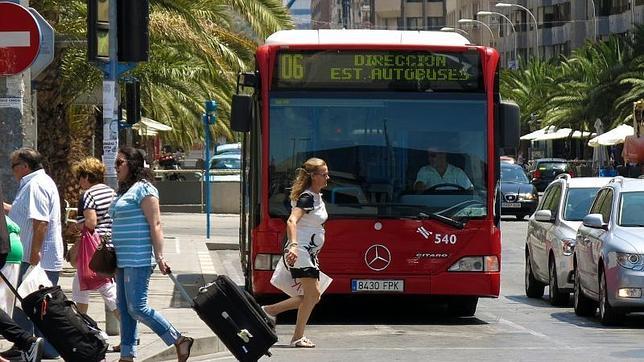
[[83,227],[78,245],[78,263],[76,270],[78,272],[78,283],[80,290],[96,290],[100,286],[109,283],[112,279],[98,275],[89,267],[89,263],[101,245],[101,237],[96,230],[89,230]]

